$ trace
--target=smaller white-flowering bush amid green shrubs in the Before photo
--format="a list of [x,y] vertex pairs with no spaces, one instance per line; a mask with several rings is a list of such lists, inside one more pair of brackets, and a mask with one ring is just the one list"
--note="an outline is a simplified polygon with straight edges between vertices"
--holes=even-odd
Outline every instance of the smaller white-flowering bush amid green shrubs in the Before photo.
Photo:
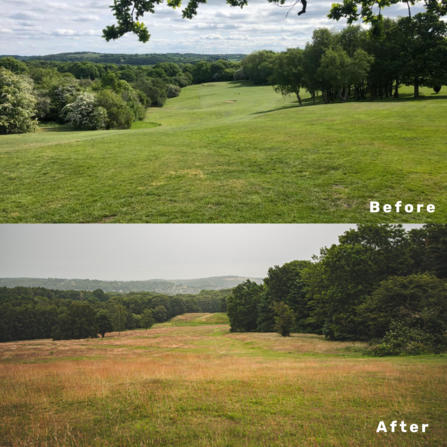
[[105,129],[107,111],[96,105],[93,93],[81,93],[71,104],[62,109],[65,121],[78,129]]

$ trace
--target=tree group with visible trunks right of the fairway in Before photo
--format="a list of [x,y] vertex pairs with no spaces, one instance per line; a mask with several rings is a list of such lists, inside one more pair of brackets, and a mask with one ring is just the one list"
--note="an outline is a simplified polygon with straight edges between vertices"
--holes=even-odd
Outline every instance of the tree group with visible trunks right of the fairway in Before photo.
[[308,91],[325,103],[399,97],[400,85],[436,93],[447,84],[447,24],[432,12],[385,19],[380,36],[360,26],[341,32],[320,28],[304,49],[282,53],[258,51],[242,60],[237,76],[259,85],[271,84],[283,95]]

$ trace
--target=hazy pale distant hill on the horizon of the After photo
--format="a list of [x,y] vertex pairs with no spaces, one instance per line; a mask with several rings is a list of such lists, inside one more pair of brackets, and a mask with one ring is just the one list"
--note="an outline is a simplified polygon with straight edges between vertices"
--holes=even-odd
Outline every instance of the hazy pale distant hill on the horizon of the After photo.
[[102,281],[99,279],[0,278],[0,287],[45,287],[57,290],[96,290],[105,292],[157,292],[167,295],[199,293],[201,290],[222,290],[236,287],[246,279],[258,284],[262,278],[214,276],[198,279],[150,279],[147,281]]

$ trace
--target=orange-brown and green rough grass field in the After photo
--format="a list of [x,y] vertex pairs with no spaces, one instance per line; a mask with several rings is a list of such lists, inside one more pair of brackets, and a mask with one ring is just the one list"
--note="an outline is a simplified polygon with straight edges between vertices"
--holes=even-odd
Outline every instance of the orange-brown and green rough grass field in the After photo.
[[[0,344],[0,444],[447,445],[445,355],[363,358],[315,335],[195,326],[209,318]],[[377,434],[381,420],[429,429]]]

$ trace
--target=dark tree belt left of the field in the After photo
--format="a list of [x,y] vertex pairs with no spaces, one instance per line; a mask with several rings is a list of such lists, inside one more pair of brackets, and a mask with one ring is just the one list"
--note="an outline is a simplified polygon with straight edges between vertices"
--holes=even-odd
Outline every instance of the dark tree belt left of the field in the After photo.
[[0,341],[96,337],[112,331],[144,328],[189,312],[219,312],[227,290],[168,296],[43,287],[0,287]]

